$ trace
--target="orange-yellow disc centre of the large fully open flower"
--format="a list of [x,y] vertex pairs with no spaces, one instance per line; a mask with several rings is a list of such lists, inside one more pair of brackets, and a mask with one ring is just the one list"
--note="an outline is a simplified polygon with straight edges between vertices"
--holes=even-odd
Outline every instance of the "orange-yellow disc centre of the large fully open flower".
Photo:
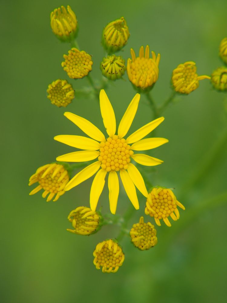
[[130,156],[133,155],[130,148],[126,140],[119,139],[117,135],[107,138],[105,142],[100,143],[98,160],[101,161],[101,167],[107,171],[127,169],[128,163],[131,161]]

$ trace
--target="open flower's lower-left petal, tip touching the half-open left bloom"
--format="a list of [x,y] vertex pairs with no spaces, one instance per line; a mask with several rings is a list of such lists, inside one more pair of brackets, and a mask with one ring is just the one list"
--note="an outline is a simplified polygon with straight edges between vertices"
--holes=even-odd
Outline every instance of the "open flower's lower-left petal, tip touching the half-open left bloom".
[[77,186],[78,184],[80,184],[81,182],[87,180],[88,178],[90,178],[91,176],[93,176],[97,170],[100,168],[100,162],[96,161],[90,165],[88,165],[87,167],[85,167],[84,169],[82,169],[80,172],[78,172],[78,174],[76,174],[65,186],[64,190],[68,191],[71,188]]

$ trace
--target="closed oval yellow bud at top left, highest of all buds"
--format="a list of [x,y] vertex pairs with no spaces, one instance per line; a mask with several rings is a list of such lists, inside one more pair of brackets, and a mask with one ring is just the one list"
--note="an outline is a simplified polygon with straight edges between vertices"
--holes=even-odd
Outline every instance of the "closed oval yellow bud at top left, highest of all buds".
[[77,35],[77,18],[71,7],[62,5],[51,12],[51,28],[61,41],[71,41]]

